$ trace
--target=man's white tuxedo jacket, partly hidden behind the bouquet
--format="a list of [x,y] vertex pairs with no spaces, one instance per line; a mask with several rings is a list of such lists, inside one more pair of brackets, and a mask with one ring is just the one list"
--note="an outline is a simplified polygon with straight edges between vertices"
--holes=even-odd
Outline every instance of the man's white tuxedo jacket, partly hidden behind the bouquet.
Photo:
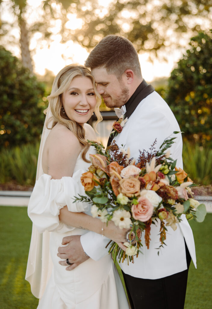
[[[180,131],[179,125],[166,102],[157,94],[152,92],[143,99],[129,117],[120,134],[115,138],[119,147],[127,150],[130,148],[130,157],[138,159],[139,149],[149,150],[155,138],[157,138],[156,150],[159,149],[165,138],[173,135],[173,131]],[[176,167],[182,168],[182,138],[181,134],[177,134],[176,142],[171,148],[171,157],[177,159]],[[123,145],[123,146],[121,146]],[[185,242],[189,249],[194,266],[196,267],[196,256],[194,237],[189,223],[185,215],[181,216],[182,221],[177,224],[177,230],[173,231],[167,226],[166,240],[164,248],[161,248],[159,256],[157,254],[159,247],[159,229],[157,226],[151,225],[150,246],[145,246],[144,234],[142,233],[141,252],[138,258],[134,257],[134,264],[124,261],[120,263],[124,273],[133,277],[145,279],[158,279],[181,272],[187,269]],[[108,239],[94,232],[88,232],[80,237],[84,251],[93,259],[99,260],[108,249],[105,249]]]

